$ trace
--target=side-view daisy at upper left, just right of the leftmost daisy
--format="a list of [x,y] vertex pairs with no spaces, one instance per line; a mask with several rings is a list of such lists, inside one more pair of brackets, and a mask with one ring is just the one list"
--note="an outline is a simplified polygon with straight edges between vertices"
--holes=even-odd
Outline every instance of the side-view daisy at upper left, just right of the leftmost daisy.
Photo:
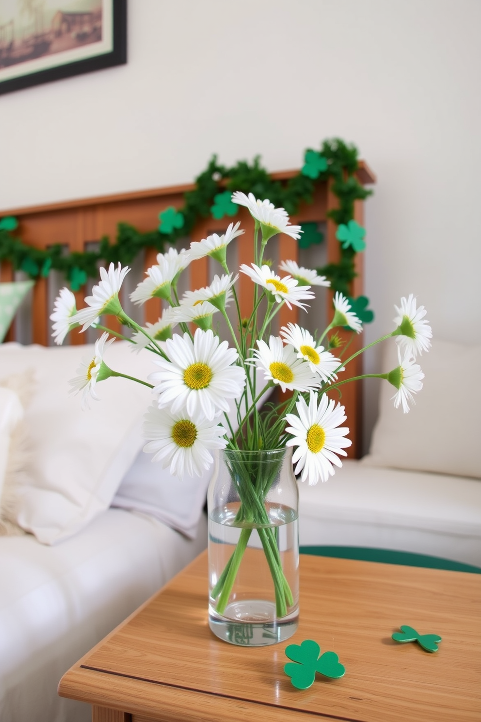
[[108,271],[105,268],[100,269],[100,283],[92,288],[92,296],[87,296],[85,303],[89,308],[81,308],[74,316],[71,316],[71,323],[78,323],[82,326],[82,331],[97,323],[97,316],[104,313],[112,313],[113,316],[123,314],[122,306],[118,300],[118,292],[122,285],[123,279],[131,269],[125,266],[125,269],[118,264],[115,269],[114,264],[110,264]]

